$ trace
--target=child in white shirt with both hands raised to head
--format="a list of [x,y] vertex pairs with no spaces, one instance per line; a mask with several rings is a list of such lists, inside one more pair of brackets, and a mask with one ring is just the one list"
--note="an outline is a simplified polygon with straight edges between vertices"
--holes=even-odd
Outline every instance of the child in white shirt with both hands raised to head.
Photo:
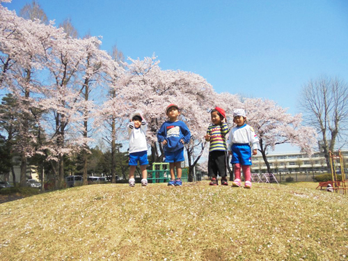
[[143,118],[140,112],[132,114],[132,121],[128,125],[129,134],[129,187],[135,186],[134,172],[136,166],[140,165],[141,186],[148,185],[148,171],[146,166],[148,162],[148,144],[146,143],[146,130],[148,126],[146,120]]

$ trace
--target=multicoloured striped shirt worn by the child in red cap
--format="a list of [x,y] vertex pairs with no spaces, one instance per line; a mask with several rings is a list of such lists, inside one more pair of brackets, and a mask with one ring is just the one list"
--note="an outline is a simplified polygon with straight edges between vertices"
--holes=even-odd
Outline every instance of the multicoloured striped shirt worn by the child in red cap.
[[213,150],[227,150],[226,134],[230,129],[226,122],[222,125],[210,125],[207,129],[207,134],[210,135],[209,152]]

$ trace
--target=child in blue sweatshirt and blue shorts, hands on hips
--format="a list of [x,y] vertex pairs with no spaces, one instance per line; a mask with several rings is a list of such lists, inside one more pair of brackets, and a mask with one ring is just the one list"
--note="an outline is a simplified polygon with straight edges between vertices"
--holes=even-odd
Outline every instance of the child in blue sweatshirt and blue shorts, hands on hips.
[[157,139],[164,148],[164,161],[169,163],[171,181],[168,182],[168,186],[182,186],[181,161],[184,161],[184,143],[189,143],[191,132],[182,120],[177,120],[180,115],[177,105],[169,104],[166,108],[166,115],[169,120],[161,125],[157,132]]

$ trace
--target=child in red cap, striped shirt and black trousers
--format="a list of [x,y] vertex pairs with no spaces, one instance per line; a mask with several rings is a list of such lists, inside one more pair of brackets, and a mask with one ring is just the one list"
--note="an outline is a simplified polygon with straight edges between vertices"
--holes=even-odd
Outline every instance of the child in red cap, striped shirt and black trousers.
[[226,113],[223,109],[215,107],[210,112],[212,117],[212,125],[207,129],[204,136],[205,141],[209,141],[209,159],[208,159],[208,175],[212,177],[209,185],[217,186],[216,177],[219,173],[221,177],[221,185],[228,186],[227,182],[227,145],[226,134],[230,131],[226,123]]

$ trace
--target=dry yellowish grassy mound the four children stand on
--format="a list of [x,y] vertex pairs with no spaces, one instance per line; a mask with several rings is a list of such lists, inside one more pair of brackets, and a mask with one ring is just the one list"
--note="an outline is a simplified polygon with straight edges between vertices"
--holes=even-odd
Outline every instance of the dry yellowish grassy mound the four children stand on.
[[1,204],[0,260],[347,260],[347,214],[291,185],[90,185]]

